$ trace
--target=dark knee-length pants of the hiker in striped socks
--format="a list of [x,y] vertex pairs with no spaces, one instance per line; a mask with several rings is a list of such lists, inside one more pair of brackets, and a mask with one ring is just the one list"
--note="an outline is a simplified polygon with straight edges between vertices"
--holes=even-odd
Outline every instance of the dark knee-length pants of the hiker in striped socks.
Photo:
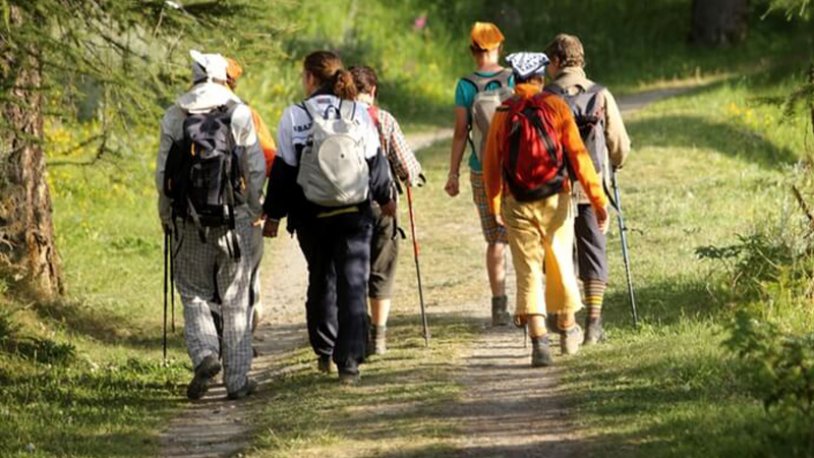
[[605,234],[599,230],[596,213],[590,205],[577,206],[574,221],[574,238],[577,241],[577,265],[579,278],[608,282],[608,256],[605,252]]

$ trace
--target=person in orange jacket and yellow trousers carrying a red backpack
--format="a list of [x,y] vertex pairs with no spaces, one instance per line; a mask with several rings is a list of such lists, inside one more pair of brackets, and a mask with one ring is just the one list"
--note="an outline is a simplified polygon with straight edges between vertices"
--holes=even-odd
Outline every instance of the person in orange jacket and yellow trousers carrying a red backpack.
[[607,224],[608,201],[568,105],[541,93],[546,55],[515,53],[506,60],[517,81],[516,95],[498,108],[492,120],[483,178],[489,211],[500,215],[512,250],[517,273],[515,324],[528,325],[531,365],[548,366],[552,358],[546,313],[557,314],[563,354],[577,353],[582,342],[574,317],[582,302],[573,269],[569,169],[582,184],[600,227]]

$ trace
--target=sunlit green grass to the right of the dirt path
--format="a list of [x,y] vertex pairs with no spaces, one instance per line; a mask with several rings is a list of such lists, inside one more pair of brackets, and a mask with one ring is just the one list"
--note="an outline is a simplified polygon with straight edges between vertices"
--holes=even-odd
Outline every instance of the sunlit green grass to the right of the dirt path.
[[743,305],[722,294],[720,266],[697,259],[695,249],[731,244],[736,234],[770,228],[782,212],[797,211],[786,176],[807,152],[806,123],[778,126],[776,107],[754,103],[794,84],[771,75],[724,82],[627,122],[636,149],[620,180],[644,324],[640,331],[630,325],[612,234],[611,338],[569,360],[565,377],[589,450],[773,456],[793,440],[774,430],[752,396],[750,368],[722,347]]

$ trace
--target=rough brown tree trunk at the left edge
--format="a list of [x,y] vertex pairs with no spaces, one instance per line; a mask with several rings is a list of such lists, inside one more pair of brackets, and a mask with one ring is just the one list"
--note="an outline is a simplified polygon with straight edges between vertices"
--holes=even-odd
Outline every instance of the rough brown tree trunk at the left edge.
[[[26,20],[11,7],[10,36]],[[36,21],[33,21],[36,22]],[[7,276],[51,297],[63,292],[59,255],[51,219],[51,194],[45,174],[42,67],[37,49],[0,43],[4,85],[0,101],[6,123],[0,157],[0,265]]]

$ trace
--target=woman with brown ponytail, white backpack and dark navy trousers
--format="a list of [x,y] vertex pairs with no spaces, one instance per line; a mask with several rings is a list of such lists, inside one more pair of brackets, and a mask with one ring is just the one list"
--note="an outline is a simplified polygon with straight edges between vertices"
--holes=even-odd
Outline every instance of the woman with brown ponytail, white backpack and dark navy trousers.
[[371,200],[394,216],[393,180],[341,59],[329,51],[309,54],[302,84],[306,99],[286,108],[277,130],[263,235],[276,237],[288,217],[308,264],[306,318],[317,367],[330,373],[333,360],[339,381],[352,384],[367,346]]

